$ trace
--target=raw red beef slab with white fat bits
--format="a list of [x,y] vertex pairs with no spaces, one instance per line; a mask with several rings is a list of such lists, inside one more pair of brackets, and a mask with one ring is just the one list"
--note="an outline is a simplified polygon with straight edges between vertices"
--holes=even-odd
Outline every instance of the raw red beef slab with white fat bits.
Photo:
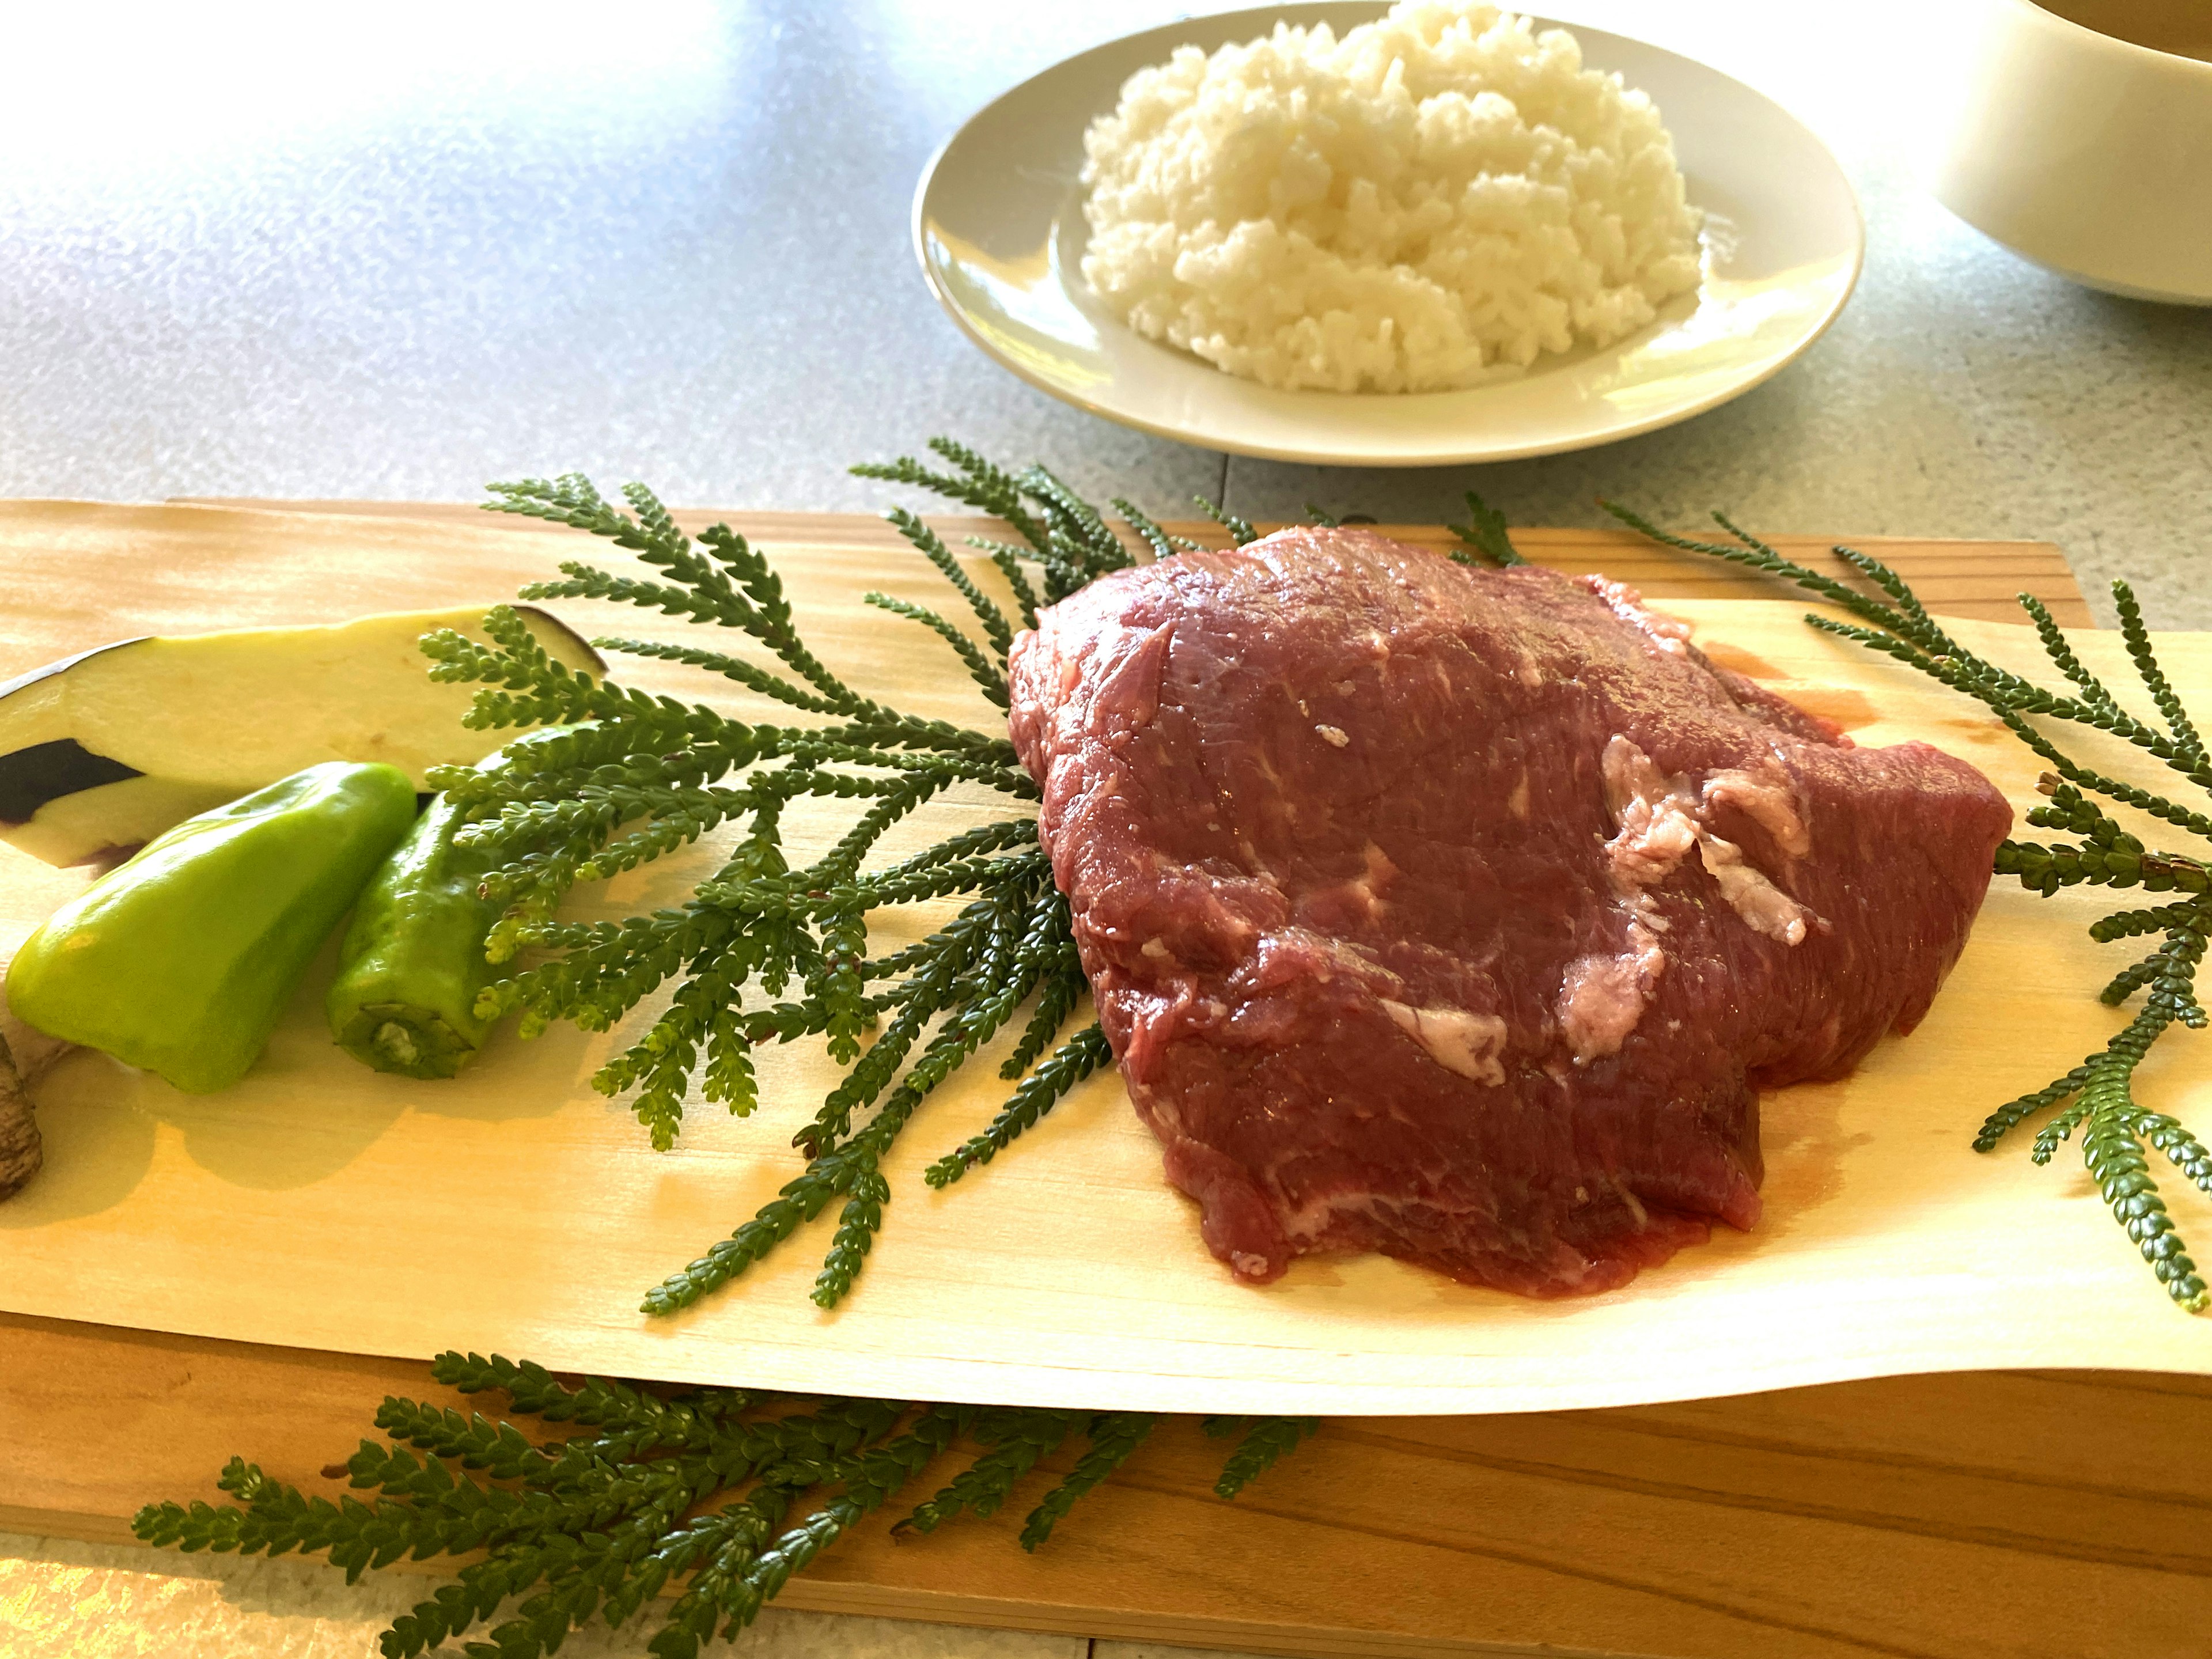
[[1759,1088],[1909,1031],[2011,825],[1595,577],[1283,531],[1013,646],[1013,741],[1168,1179],[1250,1281],[1533,1296],[1759,1219]]

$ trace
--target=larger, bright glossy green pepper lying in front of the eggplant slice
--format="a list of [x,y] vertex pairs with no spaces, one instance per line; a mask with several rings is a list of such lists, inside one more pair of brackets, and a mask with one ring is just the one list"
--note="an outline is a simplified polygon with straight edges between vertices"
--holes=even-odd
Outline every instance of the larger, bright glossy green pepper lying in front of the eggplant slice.
[[330,761],[186,818],[24,940],[9,1006],[190,1095],[228,1088],[414,812],[396,765]]

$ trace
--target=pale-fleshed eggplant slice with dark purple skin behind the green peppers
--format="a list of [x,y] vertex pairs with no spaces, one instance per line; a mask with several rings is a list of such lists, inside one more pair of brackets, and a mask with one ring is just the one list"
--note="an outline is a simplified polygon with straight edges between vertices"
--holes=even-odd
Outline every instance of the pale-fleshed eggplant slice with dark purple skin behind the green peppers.
[[[460,723],[473,686],[440,686],[416,641],[482,639],[489,606],[394,611],[323,628],[124,639],[0,686],[0,841],[49,865],[102,860],[321,761],[385,761],[416,787],[509,732]],[[606,664],[522,608],[571,668]]]

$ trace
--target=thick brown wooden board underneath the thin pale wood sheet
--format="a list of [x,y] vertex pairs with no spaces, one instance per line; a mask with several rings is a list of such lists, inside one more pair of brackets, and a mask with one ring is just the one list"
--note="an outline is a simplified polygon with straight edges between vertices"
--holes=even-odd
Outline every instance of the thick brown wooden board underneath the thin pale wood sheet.
[[[367,584],[378,597],[367,604],[385,608],[451,593],[434,568],[500,588],[551,555],[500,555],[482,542],[478,526],[522,529],[513,520],[436,511],[471,535],[453,542],[389,526],[389,535],[356,540],[274,513],[0,509],[18,597],[13,617],[0,622],[13,630],[0,639],[0,672],[133,626],[195,626],[190,617],[217,604],[232,619],[347,615],[363,608],[354,604],[363,593],[330,591],[321,553],[334,542],[380,566],[383,580]],[[770,544],[821,549],[823,564],[847,580],[883,568],[891,553],[867,520],[748,515],[743,529]],[[1517,540],[1553,562],[1635,580],[1655,597],[1767,591],[1628,538]],[[1812,549],[1809,538],[1790,544],[1798,557]],[[1949,615],[2004,615],[2008,595],[2028,588],[2066,622],[2088,619],[2053,549],[1887,542],[1878,551]],[[1705,628],[1708,641],[1714,633]],[[841,664],[852,661],[845,644]],[[0,869],[35,887],[35,869]],[[35,900],[15,907],[27,902]],[[2086,1002],[2088,971],[2057,973],[2051,1006]],[[2017,1071],[2035,1071],[2035,1082],[2044,1060],[2037,1015],[1989,1035],[2026,1048]],[[1984,1104],[1971,1088],[1980,1082],[1938,1093],[1944,1128],[1916,1148],[1929,1157],[1958,1150]],[[451,1121],[467,1128],[473,1119]],[[146,1133],[153,1159],[126,1164],[131,1179],[117,1183],[111,1210],[153,1179],[155,1161],[166,1181],[192,1181],[195,1168],[230,1181],[230,1206],[197,1223],[179,1219],[170,1237],[188,1225],[221,1237],[232,1210],[263,1190],[217,1157],[219,1144],[201,1139],[195,1159],[173,1119]],[[1042,1146],[1040,1137],[1024,1152]],[[1953,1164],[1969,1181],[2006,1183],[2006,1203],[2037,1206],[2037,1221],[2066,1230],[2075,1256],[2115,1263],[2115,1310],[2132,1303],[2201,1336],[2201,1323],[2148,1290],[2070,1170],[2017,1181],[2026,1161],[2011,1157],[2022,1166],[2011,1175],[1991,1161]],[[1002,1168],[1015,1168],[1013,1159]],[[967,1197],[991,1206],[980,1192]],[[1933,1194],[1916,1181],[1887,1219],[1922,1201]],[[0,1303],[18,1283],[18,1261],[4,1254],[18,1239],[7,1225],[0,1210]],[[398,1225],[385,1228],[383,1248],[396,1237]],[[911,1243],[889,1232],[876,1267]],[[97,1254],[111,1248],[126,1248],[135,1265],[155,1254],[128,1234],[95,1239],[73,1267],[49,1270],[49,1287],[73,1287],[58,1312],[122,1316],[126,1274]],[[513,1254],[465,1265],[500,1272]],[[586,1259],[568,1265],[595,1272]],[[210,1263],[201,1254],[195,1267],[223,1285],[263,1272],[268,1259]],[[2037,1263],[2017,1272],[2033,1281]],[[184,1276],[164,1283],[177,1287]],[[380,1279],[356,1279],[354,1292],[392,1294]],[[131,1312],[144,1314],[148,1301],[135,1298]],[[1796,1323],[1823,1316],[1818,1292],[1798,1303]],[[168,1323],[155,1312],[148,1325]],[[1909,1307],[1898,1318],[1936,1323]],[[438,1338],[458,1343],[493,1345],[467,1332]],[[345,1332],[330,1347],[354,1352],[0,1314],[0,1528],[126,1537],[128,1515],[146,1500],[215,1498],[210,1478],[230,1453],[336,1491],[319,1471],[367,1429],[380,1396],[438,1391],[418,1360],[363,1356],[365,1343]],[[2115,1354],[2108,1363],[2137,1360]],[[1219,1447],[1175,1425],[1037,1557],[1015,1551],[1000,1524],[898,1546],[883,1528],[863,1528],[792,1584],[785,1604],[1285,1655],[2181,1659],[2205,1650],[2208,1405],[2212,1383],[2201,1376],[1966,1371],[1595,1411],[1340,1418],[1237,1504],[1206,1491]]]

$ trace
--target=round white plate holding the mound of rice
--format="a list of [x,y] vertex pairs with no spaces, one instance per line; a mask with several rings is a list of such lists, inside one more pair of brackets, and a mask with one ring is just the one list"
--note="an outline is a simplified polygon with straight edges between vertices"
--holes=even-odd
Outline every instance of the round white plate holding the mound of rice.
[[[1778,104],[1705,64],[1575,29],[1584,62],[1659,104],[1705,281],[1604,349],[1544,354],[1471,392],[1276,392],[1113,319],[1082,279],[1084,128],[1175,46],[1252,40],[1279,18],[1338,33],[1383,4],[1285,4],[1150,29],[1068,58],[989,104],[922,170],[914,248],[975,345],[1055,398],[1161,438],[1272,460],[1442,467],[1586,449],[1688,420],[1785,367],[1858,281],[1865,232],[1836,157]],[[1557,27],[1542,18],[1540,29]]]

